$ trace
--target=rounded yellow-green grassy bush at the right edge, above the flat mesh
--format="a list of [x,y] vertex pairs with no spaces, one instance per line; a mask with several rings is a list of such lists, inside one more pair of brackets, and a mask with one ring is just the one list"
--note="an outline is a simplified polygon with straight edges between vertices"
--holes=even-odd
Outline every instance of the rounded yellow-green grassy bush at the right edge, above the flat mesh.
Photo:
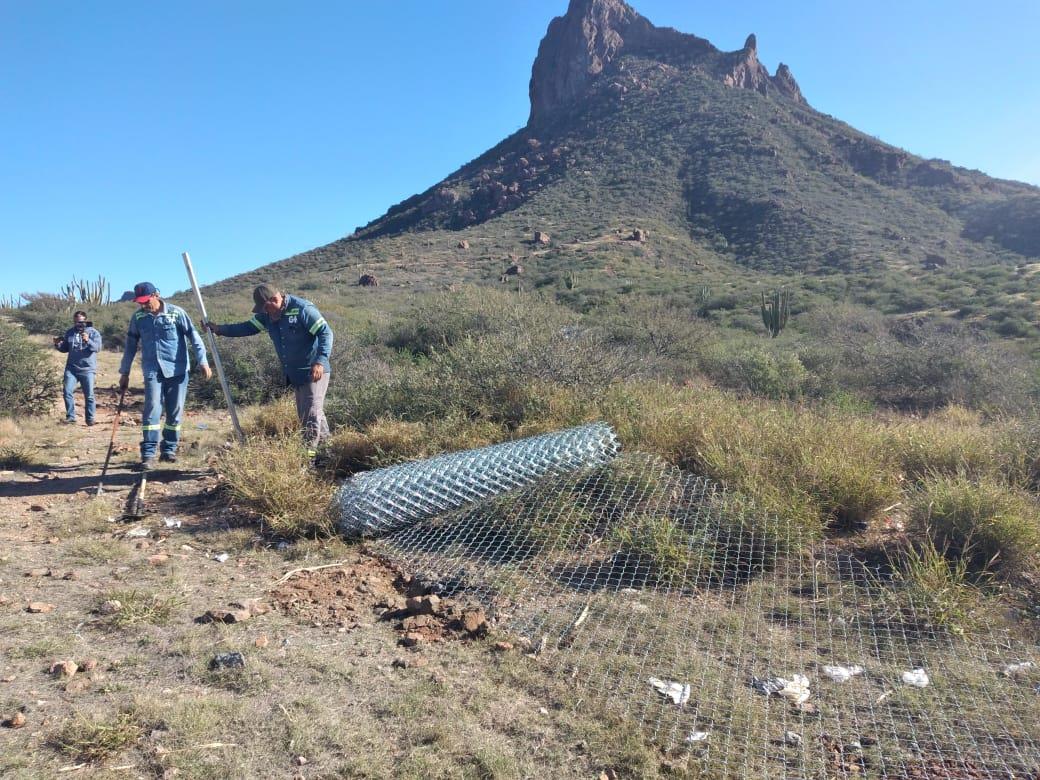
[[1014,575],[1040,552],[1040,509],[1031,495],[990,477],[937,475],[910,502],[910,530],[971,574]]

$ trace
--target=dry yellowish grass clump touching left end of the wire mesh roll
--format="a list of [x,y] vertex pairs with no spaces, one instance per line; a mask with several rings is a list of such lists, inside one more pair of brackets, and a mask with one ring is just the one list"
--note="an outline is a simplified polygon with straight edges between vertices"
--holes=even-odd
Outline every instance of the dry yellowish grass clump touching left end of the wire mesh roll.
[[328,536],[333,486],[310,467],[298,437],[249,439],[220,453],[217,471],[231,495],[284,537]]

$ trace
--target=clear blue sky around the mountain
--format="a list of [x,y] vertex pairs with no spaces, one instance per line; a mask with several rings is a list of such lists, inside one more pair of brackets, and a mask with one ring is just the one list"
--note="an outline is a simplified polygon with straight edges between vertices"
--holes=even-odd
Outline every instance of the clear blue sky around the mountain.
[[[881,139],[1040,184],[1036,0],[633,0]],[[0,294],[335,240],[527,119],[567,0],[0,0]]]

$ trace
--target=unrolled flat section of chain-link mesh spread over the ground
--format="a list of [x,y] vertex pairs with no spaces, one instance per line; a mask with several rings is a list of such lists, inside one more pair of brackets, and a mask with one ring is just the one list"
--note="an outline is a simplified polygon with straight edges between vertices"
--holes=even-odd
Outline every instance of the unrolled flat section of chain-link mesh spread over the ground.
[[656,459],[553,475],[369,545],[483,602],[554,680],[706,777],[1040,777],[1035,645],[944,630],[883,569]]

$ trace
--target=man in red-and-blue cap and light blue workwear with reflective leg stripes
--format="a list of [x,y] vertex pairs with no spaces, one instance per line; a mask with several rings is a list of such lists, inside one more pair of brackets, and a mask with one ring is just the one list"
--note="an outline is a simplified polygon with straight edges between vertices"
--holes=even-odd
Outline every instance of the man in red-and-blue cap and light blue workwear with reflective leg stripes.
[[[188,343],[194,349],[196,361],[203,375],[213,375],[206,360],[206,345],[191,323],[188,313],[179,306],[159,297],[151,282],[141,282],[133,288],[134,303],[140,310],[130,317],[127,344],[120,364],[120,390],[130,384],[137,344],[140,344],[140,367],[145,374],[145,412],[140,427],[140,467],[148,471],[155,467],[155,450],[159,460],[177,462],[177,444],[181,438],[181,414],[188,390]],[[164,413],[162,443],[159,443],[159,415]]]

